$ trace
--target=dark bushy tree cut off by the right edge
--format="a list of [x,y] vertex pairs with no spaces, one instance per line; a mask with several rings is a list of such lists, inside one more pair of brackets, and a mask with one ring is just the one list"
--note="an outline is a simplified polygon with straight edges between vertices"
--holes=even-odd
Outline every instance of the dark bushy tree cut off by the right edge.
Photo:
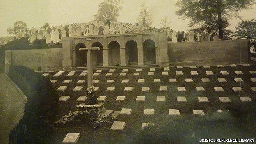
[[235,29],[233,34],[235,37],[238,39],[249,39],[251,46],[256,48],[256,19],[242,20]]

